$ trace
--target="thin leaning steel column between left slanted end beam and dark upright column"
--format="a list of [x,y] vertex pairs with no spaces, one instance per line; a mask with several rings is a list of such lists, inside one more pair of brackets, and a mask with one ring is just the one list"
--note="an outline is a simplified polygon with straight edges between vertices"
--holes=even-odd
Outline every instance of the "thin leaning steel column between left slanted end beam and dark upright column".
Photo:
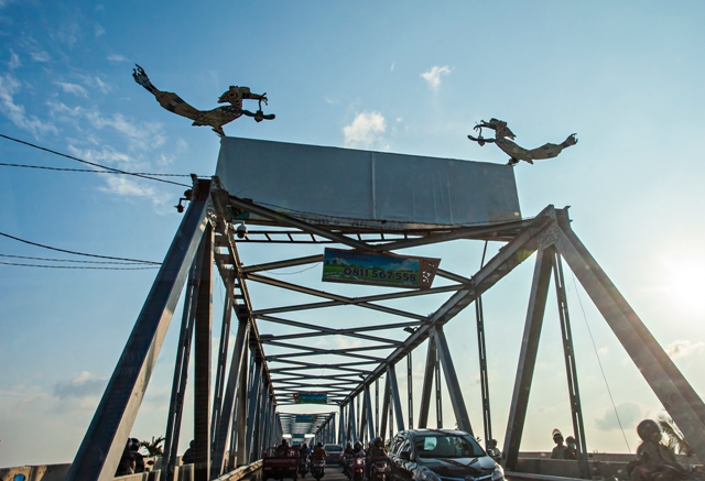
[[204,243],[198,245],[196,259],[191,269],[186,296],[184,298],[184,311],[182,315],[181,331],[178,334],[178,347],[176,349],[176,361],[174,363],[174,380],[172,382],[172,395],[169,405],[169,416],[166,419],[166,435],[164,437],[164,456],[162,466],[164,478],[171,481],[174,478],[176,458],[178,455],[178,439],[181,434],[181,422],[184,413],[184,401],[186,396],[186,383],[188,380],[188,359],[191,357],[191,343],[194,335],[194,323],[196,319],[196,287],[200,278],[200,264],[203,263]]

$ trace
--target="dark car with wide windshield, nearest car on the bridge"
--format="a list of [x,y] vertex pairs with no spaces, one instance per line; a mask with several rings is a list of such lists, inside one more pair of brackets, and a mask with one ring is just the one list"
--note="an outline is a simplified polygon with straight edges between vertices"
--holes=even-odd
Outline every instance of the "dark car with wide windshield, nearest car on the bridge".
[[391,481],[503,481],[505,471],[469,434],[409,429],[389,450]]

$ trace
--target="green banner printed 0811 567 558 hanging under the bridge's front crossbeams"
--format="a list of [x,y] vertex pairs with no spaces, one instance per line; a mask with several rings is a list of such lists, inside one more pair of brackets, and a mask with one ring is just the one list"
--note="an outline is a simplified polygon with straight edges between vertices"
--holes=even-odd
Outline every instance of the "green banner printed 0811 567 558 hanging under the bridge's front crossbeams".
[[440,263],[440,259],[432,258],[326,249],[323,255],[323,281],[423,289],[433,284]]

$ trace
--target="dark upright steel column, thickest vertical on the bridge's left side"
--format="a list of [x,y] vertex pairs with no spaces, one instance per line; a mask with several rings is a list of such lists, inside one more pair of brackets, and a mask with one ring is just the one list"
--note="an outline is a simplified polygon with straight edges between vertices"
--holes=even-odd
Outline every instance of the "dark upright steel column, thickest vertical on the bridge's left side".
[[210,468],[210,339],[213,336],[213,228],[206,226],[194,327],[194,481],[208,481]]

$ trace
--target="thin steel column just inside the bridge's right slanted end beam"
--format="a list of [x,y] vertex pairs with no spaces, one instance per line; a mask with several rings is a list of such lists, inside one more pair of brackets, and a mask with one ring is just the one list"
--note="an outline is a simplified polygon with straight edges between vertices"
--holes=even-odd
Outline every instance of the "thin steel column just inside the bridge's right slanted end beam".
[[568,396],[571,400],[571,414],[573,418],[573,431],[577,441],[577,464],[581,478],[590,479],[590,466],[587,460],[587,445],[585,444],[585,425],[583,424],[583,408],[581,406],[581,391],[577,383],[577,367],[575,351],[573,349],[573,335],[571,332],[571,316],[568,314],[568,299],[565,294],[565,280],[563,277],[563,264],[561,255],[551,247],[547,249],[553,256],[553,281],[555,283],[555,296],[558,302],[558,318],[561,320],[561,335],[563,339],[563,354],[565,357],[565,372],[568,381]]

